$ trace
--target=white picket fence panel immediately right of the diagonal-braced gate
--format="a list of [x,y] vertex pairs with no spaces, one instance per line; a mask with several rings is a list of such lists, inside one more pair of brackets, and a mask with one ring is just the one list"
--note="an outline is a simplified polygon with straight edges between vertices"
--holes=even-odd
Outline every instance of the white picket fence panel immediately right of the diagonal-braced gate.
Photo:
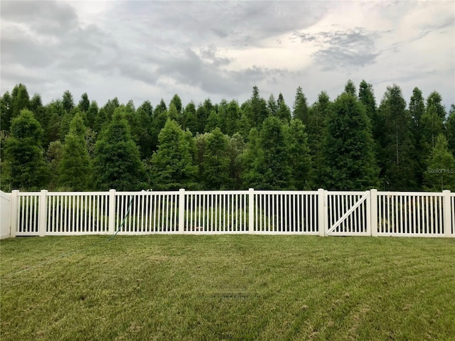
[[378,235],[444,237],[443,210],[450,209],[442,193],[378,192]]

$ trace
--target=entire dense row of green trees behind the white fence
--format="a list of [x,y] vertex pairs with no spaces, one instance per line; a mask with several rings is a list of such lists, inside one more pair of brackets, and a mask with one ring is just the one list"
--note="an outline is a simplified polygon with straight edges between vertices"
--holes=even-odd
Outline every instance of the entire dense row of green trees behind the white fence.
[[0,97],[1,190],[455,191],[455,105],[398,85],[379,102],[363,80],[313,104],[301,87],[154,107],[117,97],[100,107],[69,90],[43,104],[18,84]]

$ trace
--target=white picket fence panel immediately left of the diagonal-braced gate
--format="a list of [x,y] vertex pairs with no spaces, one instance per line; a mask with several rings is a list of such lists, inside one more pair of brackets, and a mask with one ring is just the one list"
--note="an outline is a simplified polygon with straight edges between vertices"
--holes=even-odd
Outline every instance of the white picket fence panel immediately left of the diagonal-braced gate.
[[254,233],[318,234],[318,192],[255,191]]

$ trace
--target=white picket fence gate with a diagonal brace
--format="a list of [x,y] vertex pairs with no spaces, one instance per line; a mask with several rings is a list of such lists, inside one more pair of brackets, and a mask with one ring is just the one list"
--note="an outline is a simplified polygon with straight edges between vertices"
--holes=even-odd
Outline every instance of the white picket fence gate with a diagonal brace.
[[370,191],[326,192],[326,236],[370,235]]

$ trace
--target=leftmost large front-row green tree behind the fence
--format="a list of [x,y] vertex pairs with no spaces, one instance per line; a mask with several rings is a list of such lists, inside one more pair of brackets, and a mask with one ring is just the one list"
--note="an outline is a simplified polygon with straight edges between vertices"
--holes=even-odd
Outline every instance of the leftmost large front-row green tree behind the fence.
[[12,189],[40,190],[48,183],[48,166],[42,148],[43,129],[33,112],[23,109],[11,121],[11,136],[6,144],[9,183]]

